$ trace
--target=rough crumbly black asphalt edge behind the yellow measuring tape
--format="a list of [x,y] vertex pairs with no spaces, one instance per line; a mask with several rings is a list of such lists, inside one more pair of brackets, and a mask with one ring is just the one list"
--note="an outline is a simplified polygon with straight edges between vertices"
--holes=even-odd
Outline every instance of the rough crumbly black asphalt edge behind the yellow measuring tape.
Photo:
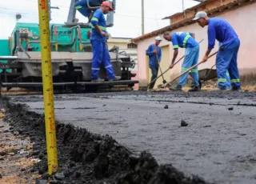
[[[34,155],[42,159],[34,170],[46,173],[44,117],[26,110],[25,106],[5,101],[6,122],[14,125],[34,142]],[[171,165],[159,166],[154,157],[142,152],[135,157],[109,135],[91,134],[85,129],[56,122],[59,172],[65,178],[51,183],[117,183],[117,184],[204,184],[202,178],[186,176]],[[33,170],[33,171],[34,171]]]

